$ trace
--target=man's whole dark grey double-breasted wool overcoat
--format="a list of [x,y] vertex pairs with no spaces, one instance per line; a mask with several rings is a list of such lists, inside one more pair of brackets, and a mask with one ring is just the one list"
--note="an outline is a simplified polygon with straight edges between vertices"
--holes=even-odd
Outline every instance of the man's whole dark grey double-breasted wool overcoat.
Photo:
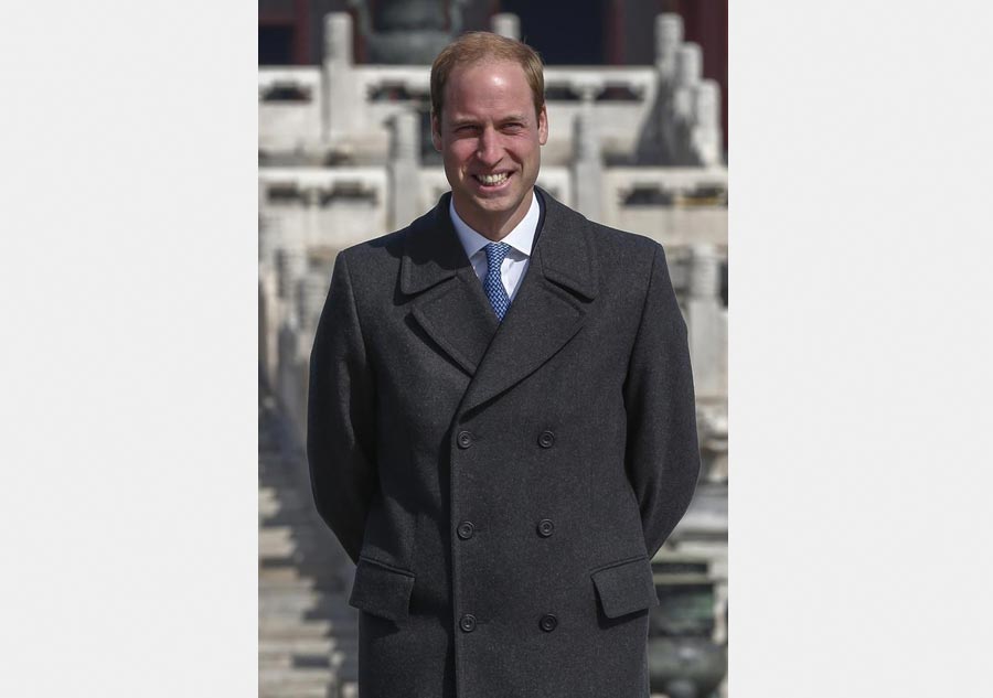
[[450,194],[338,256],[307,445],[361,698],[649,695],[650,559],[700,469],[686,327],[660,245],[537,191],[502,323]]

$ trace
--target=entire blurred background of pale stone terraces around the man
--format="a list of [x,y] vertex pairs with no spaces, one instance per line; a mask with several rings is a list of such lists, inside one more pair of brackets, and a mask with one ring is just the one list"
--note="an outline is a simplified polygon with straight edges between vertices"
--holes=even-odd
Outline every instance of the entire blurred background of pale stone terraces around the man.
[[428,75],[462,31],[545,61],[537,183],[666,250],[690,329],[703,469],[655,556],[653,696],[727,696],[727,0],[260,0],[259,696],[357,696],[354,567],[313,508],[313,332],[339,250],[448,191]]

